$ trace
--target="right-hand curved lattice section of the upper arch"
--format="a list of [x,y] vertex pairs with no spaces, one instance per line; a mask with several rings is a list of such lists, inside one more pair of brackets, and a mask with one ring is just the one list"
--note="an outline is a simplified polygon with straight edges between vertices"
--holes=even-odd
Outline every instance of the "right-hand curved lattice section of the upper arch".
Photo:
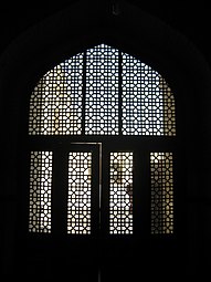
[[149,65],[123,54],[123,134],[175,135],[175,100]]

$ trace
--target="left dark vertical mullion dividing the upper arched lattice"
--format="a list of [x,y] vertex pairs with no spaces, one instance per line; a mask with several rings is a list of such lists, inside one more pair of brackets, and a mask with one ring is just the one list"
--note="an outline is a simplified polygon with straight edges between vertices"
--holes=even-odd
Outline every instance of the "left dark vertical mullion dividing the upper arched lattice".
[[86,106],[86,51],[83,55],[83,79],[82,79],[82,135],[85,135],[85,106]]

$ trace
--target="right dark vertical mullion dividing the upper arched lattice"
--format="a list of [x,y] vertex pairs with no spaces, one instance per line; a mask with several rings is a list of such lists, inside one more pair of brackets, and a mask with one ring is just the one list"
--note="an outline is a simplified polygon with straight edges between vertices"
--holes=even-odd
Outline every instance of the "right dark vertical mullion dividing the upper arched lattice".
[[118,134],[123,135],[123,55],[118,51]]

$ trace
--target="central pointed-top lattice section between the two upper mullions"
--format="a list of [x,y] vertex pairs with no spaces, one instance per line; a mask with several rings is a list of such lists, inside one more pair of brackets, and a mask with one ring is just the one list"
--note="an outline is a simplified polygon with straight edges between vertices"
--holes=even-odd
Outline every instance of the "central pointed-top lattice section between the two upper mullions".
[[85,134],[118,134],[118,50],[87,50]]

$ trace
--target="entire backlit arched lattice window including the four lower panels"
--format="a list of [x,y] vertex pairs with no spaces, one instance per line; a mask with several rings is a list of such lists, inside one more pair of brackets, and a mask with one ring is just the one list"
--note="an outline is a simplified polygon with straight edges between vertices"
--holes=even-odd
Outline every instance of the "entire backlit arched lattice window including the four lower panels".
[[149,232],[173,233],[176,105],[151,66],[106,44],[65,60],[34,87],[29,136],[30,232],[133,234],[150,210]]

